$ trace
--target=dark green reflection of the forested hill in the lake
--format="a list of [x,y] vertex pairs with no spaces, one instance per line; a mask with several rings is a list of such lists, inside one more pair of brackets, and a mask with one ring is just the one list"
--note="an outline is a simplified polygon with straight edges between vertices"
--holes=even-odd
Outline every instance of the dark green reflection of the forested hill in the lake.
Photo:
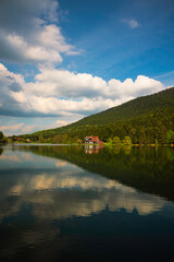
[[35,154],[69,160],[137,190],[174,200],[173,148],[114,148],[86,154],[78,146],[30,146]]

